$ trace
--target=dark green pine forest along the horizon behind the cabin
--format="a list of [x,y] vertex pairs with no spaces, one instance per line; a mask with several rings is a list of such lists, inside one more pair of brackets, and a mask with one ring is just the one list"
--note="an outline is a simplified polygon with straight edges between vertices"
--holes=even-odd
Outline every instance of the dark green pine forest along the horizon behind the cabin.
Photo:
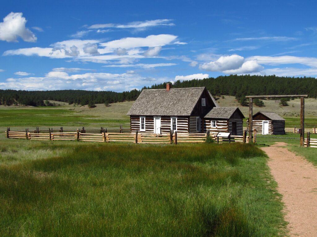
[[[51,104],[45,103],[45,101],[55,100],[68,102],[69,104],[94,105],[104,103],[107,105],[108,103],[136,100],[143,89],[163,89],[166,87],[166,83],[168,82],[143,87],[141,90],[133,89],[124,92],[0,90],[0,104],[49,106]],[[317,80],[314,77],[230,75],[201,80],[176,81],[172,85],[172,88],[185,87],[206,87],[213,95],[231,95],[242,102],[246,95],[308,94],[308,97],[317,97]]]

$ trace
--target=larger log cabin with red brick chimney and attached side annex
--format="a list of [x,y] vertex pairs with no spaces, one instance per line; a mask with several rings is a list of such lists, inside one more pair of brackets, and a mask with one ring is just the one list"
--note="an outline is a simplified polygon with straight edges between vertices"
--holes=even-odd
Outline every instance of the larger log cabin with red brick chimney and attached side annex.
[[[213,109],[215,113],[226,111],[225,117],[211,118],[208,115]],[[228,112],[229,111],[229,112]],[[231,115],[228,114],[231,112]],[[236,124],[237,134],[242,135],[243,114],[238,108],[228,109],[219,107],[214,97],[205,87],[171,88],[166,84],[166,89],[142,90],[137,100],[133,103],[127,115],[130,116],[131,132],[140,131],[148,133],[201,133],[210,129],[211,119],[216,120],[220,131],[229,131],[235,125],[234,119],[240,116]],[[220,118],[220,119],[218,119]],[[226,125],[220,126],[223,121]],[[240,125],[241,122],[241,125]],[[226,128],[225,128],[226,127]],[[241,130],[241,131],[240,131]]]

